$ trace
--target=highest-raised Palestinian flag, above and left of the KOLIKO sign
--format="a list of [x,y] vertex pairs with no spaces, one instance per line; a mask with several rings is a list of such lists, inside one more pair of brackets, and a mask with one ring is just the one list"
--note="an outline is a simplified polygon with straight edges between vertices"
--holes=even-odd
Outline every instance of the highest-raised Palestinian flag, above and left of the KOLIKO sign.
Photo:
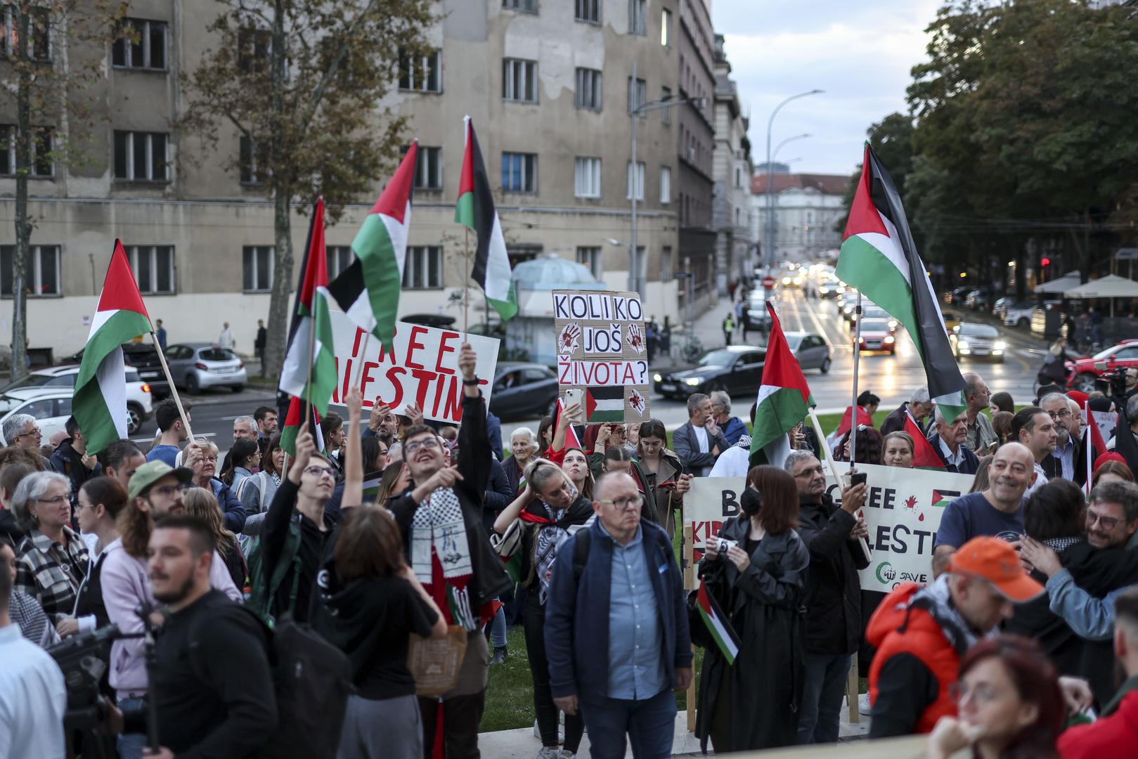
[[478,236],[475,267],[470,278],[478,282],[494,311],[505,321],[518,313],[518,294],[513,288],[510,257],[506,255],[502,222],[494,208],[490,180],[483,164],[483,151],[478,149],[478,138],[475,137],[470,116],[462,119],[462,125],[467,151],[462,156],[454,221],[469,226]]

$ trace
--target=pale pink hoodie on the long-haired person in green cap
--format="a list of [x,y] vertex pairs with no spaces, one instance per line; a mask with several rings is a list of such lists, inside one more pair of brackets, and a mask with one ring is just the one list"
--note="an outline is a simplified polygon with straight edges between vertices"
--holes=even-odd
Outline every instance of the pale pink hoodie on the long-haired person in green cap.
[[[158,607],[150,588],[146,559],[135,559],[126,553],[122,541],[115,541],[105,551],[107,558],[102,560],[100,584],[107,617],[123,633],[141,633],[142,620],[134,610],[143,601]],[[237,603],[242,602],[241,591],[233,585],[225,562],[216,551],[209,566],[209,584]],[[141,637],[123,638],[112,644],[109,679],[119,699],[146,693],[146,644]]]

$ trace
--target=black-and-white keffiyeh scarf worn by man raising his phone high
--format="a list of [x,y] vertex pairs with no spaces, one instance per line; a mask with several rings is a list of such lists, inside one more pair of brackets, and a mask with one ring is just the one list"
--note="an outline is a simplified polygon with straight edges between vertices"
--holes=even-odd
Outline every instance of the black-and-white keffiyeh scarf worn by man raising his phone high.
[[[444,588],[435,585],[435,561],[442,569]],[[470,544],[462,505],[452,488],[440,487],[419,504],[411,520],[411,567],[427,592],[445,597],[443,607],[448,622],[468,630],[478,628],[478,614],[470,605]]]

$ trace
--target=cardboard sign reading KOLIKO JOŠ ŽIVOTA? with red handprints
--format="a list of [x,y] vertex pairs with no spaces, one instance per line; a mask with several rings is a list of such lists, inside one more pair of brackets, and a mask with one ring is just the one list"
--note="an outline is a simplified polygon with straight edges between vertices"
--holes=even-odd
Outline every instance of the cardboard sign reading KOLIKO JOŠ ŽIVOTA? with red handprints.
[[585,421],[649,419],[648,338],[636,292],[553,290],[558,382]]

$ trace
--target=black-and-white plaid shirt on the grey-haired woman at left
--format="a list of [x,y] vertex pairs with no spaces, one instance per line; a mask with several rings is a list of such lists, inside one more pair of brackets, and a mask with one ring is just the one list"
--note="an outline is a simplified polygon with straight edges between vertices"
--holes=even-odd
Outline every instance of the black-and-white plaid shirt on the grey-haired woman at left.
[[16,558],[15,589],[39,601],[52,625],[75,609],[75,593],[88,564],[86,546],[79,535],[64,527],[64,537],[66,545],[32,530],[20,541]]

